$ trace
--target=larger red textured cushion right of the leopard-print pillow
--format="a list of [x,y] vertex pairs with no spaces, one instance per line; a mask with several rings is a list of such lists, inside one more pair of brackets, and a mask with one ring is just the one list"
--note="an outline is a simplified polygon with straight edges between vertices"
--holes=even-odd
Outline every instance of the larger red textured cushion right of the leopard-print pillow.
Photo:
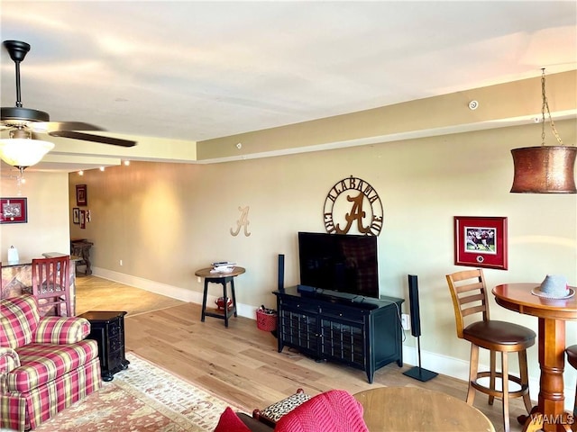
[[279,419],[275,432],[369,432],[362,405],[343,390],[317,394]]

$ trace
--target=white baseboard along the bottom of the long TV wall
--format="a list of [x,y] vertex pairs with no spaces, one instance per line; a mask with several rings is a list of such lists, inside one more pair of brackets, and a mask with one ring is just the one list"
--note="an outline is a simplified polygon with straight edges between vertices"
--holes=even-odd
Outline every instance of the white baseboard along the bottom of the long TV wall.
[[[178,299],[183,302],[193,302],[197,304],[202,303],[202,292],[191,291],[185,288],[179,288],[169,284],[160,284],[149,279],[142,279],[131,275],[124,275],[123,273],[113,272],[104,268],[92,267],[93,275],[108,279],[110,281],[119,282],[141,288],[142,290],[150,291],[160,295],[166,295],[173,299]],[[217,299],[214,295],[208,295],[206,298],[207,304],[214,304]],[[255,306],[249,304],[236,304],[236,312],[239,316],[256,320]],[[408,347],[403,345],[403,363],[405,365],[417,365],[418,354],[416,347]],[[452,376],[459,380],[467,382],[469,380],[469,361],[461,360],[459,358],[443,356],[436,353],[421,350],[421,367],[438,374]],[[489,370],[489,366],[480,365],[480,369]],[[529,376],[529,392],[532,399],[536,400],[536,395],[539,394],[539,377]],[[575,398],[575,389],[565,387],[565,410],[572,411],[573,401]]]

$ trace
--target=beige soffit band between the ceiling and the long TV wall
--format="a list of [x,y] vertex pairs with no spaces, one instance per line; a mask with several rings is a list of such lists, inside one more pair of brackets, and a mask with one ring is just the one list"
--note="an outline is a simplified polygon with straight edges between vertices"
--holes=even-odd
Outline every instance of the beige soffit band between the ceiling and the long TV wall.
[[[361,112],[255,130],[197,143],[198,160],[252,157],[272,151],[374,144],[456,131],[511,126],[533,121],[541,107],[541,78],[395,103]],[[547,99],[554,119],[577,113],[577,70],[547,76]],[[477,109],[469,103],[477,101]],[[540,117],[540,116],[539,116]],[[547,128],[548,129],[548,128]],[[549,131],[550,132],[550,131]],[[552,134],[547,139],[554,143]],[[571,142],[571,141],[569,141]],[[242,148],[237,148],[241,143]],[[533,145],[533,144],[531,144]]]

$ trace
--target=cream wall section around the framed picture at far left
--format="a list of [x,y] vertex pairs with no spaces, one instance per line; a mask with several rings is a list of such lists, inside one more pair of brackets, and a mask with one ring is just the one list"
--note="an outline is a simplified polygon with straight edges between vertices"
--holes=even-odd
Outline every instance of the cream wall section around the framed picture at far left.
[[41,257],[43,252],[69,253],[69,175],[24,171],[26,183],[16,184],[18,171],[4,163],[0,168],[0,196],[25,197],[28,222],[0,225],[0,257],[14,246],[21,259]]

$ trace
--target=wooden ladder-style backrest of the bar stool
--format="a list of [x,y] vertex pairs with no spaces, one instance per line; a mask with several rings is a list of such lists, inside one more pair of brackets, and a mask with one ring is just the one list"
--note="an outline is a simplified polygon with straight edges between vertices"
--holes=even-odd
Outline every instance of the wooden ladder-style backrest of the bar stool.
[[[489,320],[489,302],[485,278],[481,269],[456,272],[452,275],[446,275],[446,278],[453,299],[457,337],[463,339],[465,317],[480,314],[476,320]],[[475,319],[469,318],[468,320]]]

